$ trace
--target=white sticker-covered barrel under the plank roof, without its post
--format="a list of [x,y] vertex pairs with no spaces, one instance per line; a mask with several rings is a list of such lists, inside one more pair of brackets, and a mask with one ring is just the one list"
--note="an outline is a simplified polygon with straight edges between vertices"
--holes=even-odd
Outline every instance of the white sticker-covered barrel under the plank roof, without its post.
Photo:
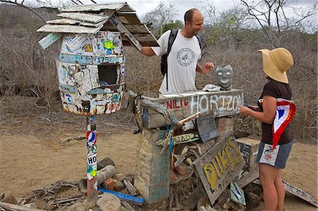
[[124,72],[120,32],[65,34],[57,58],[64,110],[81,115],[118,111],[124,91]]

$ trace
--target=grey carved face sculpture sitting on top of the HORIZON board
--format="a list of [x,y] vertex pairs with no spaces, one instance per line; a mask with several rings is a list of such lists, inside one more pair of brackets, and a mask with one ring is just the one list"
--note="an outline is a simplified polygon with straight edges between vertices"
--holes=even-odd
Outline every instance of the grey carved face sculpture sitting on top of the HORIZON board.
[[230,64],[225,67],[216,68],[216,79],[218,80],[218,85],[221,87],[221,90],[232,89],[232,78],[233,69]]

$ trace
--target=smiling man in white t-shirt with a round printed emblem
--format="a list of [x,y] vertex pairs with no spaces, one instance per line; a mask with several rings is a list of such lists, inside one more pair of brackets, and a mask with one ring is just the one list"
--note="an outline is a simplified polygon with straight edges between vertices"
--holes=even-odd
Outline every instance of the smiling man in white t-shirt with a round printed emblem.
[[[208,73],[214,67],[212,62],[200,66],[201,49],[199,40],[195,35],[202,30],[204,17],[196,8],[192,8],[184,14],[184,28],[177,32],[175,42],[172,44],[170,54],[167,56],[168,81],[163,78],[160,86],[161,94],[171,94],[196,90],[196,71]],[[167,43],[170,30],[165,32],[158,40],[160,47],[143,47],[141,53],[146,56],[162,56],[167,52]],[[167,89],[168,83],[168,89]]]

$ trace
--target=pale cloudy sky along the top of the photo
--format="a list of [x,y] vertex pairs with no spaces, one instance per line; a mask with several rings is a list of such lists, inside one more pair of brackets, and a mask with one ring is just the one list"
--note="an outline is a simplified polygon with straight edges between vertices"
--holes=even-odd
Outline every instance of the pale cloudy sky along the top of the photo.
[[[93,4],[90,0],[81,0],[83,4]],[[115,2],[124,2],[124,0],[94,0],[98,4],[107,4],[107,3],[115,3]],[[178,10],[179,16],[176,19],[183,20],[184,13],[190,8],[201,8],[206,4],[206,2],[210,2],[213,6],[216,6],[216,11],[221,12],[232,6],[239,4],[239,0],[161,0],[165,1],[167,4],[174,4]],[[314,4],[317,0],[289,0],[288,4],[290,6],[298,6],[298,7],[306,7]],[[156,6],[158,6],[160,0],[126,0],[127,4],[136,10],[137,16],[139,18],[143,18],[143,16],[148,12],[153,10]],[[288,11],[286,9],[286,13],[292,14],[293,11]],[[310,21],[317,25],[317,16],[310,18]]]

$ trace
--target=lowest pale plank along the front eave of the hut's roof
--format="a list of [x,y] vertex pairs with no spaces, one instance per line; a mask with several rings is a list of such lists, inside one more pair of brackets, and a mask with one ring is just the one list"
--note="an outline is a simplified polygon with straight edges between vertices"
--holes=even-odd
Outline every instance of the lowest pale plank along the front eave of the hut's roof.
[[79,26],[79,25],[43,25],[37,32],[52,32],[52,33],[74,33],[74,34],[96,34],[102,25],[98,28]]

